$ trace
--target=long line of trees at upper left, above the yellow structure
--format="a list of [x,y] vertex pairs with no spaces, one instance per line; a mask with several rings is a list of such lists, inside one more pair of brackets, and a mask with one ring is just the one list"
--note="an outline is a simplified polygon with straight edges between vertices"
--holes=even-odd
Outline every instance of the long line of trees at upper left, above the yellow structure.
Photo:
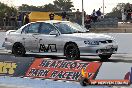
[[12,12],[30,12],[30,11],[42,11],[42,12],[52,12],[52,11],[72,11],[73,2],[71,0],[55,0],[52,3],[45,4],[42,6],[33,6],[22,4],[18,8],[10,7],[4,3],[0,2],[0,17],[2,18],[5,13],[10,14]]

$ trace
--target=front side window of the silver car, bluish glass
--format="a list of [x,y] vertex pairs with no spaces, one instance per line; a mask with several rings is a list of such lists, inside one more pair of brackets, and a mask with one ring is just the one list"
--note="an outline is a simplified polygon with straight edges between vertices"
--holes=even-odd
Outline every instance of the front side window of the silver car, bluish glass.
[[53,30],[56,30],[53,25],[49,23],[42,23],[40,28],[40,34],[49,34]]

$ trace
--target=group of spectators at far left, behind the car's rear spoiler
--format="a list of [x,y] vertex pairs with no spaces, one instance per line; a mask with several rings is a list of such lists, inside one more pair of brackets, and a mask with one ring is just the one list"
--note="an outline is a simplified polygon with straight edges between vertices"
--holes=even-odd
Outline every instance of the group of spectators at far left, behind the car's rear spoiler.
[[25,25],[30,22],[28,13],[11,13],[11,15],[5,13],[3,18],[4,26],[15,26],[20,28],[22,25]]

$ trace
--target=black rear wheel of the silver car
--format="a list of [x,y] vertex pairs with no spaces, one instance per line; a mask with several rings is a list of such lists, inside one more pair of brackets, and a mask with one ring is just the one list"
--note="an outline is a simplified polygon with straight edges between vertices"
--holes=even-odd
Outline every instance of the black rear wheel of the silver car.
[[25,56],[25,48],[21,43],[15,43],[12,48],[12,53],[15,56]]

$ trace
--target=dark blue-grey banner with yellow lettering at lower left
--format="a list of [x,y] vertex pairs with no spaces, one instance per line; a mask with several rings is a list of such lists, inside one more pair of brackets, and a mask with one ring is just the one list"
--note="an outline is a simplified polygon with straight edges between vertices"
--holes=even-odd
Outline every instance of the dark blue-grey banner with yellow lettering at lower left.
[[0,55],[0,76],[24,76],[34,58]]

